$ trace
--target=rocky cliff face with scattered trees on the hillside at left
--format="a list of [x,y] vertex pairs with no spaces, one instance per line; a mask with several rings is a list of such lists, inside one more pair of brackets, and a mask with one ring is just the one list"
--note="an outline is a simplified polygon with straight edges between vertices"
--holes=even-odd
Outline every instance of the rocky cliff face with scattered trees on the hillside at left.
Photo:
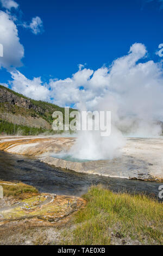
[[9,123],[50,130],[51,122],[47,119],[52,117],[53,107],[32,101],[0,86],[0,118]]

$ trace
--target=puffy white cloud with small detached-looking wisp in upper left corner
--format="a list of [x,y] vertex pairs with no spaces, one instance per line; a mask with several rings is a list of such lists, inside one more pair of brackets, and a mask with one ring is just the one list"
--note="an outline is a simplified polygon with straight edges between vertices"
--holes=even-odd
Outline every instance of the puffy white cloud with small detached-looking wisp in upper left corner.
[[[18,35],[18,25],[29,28],[34,34],[43,32],[43,22],[40,17],[34,17],[27,25],[18,20],[17,13],[12,13],[12,8],[17,9],[18,4],[13,0],[0,0],[5,11],[0,10],[0,69],[7,70],[18,68],[22,65],[24,47]],[[19,24],[17,24],[20,22]],[[2,52],[3,49],[3,52]]]

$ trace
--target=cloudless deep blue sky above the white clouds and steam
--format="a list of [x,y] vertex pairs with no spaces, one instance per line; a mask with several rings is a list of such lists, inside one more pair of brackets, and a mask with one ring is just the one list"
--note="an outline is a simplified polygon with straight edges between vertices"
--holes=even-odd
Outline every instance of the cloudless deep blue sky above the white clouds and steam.
[[[135,42],[146,45],[149,57],[162,42],[163,10],[158,1],[17,0],[24,20],[41,17],[44,33],[34,35],[18,27],[24,46],[24,75],[47,80],[71,76],[78,64],[90,69],[110,64]],[[143,6],[143,8],[142,8]],[[0,71],[1,81],[7,82]]]

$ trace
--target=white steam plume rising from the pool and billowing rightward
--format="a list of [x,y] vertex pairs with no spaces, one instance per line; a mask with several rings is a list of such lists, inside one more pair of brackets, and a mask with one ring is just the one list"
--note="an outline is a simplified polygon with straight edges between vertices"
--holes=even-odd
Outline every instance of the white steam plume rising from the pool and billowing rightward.
[[[120,149],[125,145],[124,135],[161,135],[161,122],[158,120],[163,120],[162,66],[153,61],[137,63],[146,53],[144,45],[134,44],[128,55],[116,59],[109,69],[99,69],[98,74],[101,73],[101,76],[94,73],[89,82],[97,79],[98,90],[101,91],[99,97],[95,98],[90,107],[90,102],[82,92],[77,105],[81,111],[85,108],[111,111],[111,135],[101,137],[98,131],[78,132],[78,140],[70,151],[73,157],[87,160],[113,159],[120,156]],[[94,86],[96,83],[94,81]]]

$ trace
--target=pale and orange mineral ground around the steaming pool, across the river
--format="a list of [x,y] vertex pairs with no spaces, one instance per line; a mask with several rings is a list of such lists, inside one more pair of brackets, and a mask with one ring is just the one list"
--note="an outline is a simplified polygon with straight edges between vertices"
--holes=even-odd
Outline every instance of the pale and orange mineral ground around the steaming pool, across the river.
[[[163,138],[127,138],[121,156],[113,160],[78,161],[61,157],[74,137],[0,137],[0,150],[34,156],[50,166],[110,178],[163,181]],[[71,160],[71,161],[70,161]]]

